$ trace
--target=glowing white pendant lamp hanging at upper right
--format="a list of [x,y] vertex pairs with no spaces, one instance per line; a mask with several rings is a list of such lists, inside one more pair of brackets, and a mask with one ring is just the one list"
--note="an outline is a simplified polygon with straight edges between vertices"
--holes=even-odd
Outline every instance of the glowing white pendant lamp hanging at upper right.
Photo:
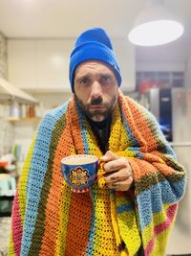
[[155,46],[172,42],[183,34],[183,26],[161,0],[147,1],[128,38],[136,45]]

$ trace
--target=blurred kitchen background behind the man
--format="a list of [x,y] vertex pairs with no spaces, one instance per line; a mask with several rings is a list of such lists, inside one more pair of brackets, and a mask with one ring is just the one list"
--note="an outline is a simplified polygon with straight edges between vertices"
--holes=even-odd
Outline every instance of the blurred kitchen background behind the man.
[[[130,41],[130,32],[137,24],[147,22],[150,16],[155,20],[160,14],[162,19],[168,19],[165,15],[169,14],[169,19],[179,21],[182,35],[149,46]],[[33,133],[47,111],[72,96],[68,65],[74,40],[93,27],[102,27],[112,38],[123,78],[121,90],[154,113],[190,173],[190,0],[0,0],[2,255],[7,255],[11,203]],[[164,28],[157,27],[141,37],[145,40],[151,35],[157,40]],[[164,33],[166,39],[168,35]],[[168,255],[191,254],[190,192],[188,179]]]

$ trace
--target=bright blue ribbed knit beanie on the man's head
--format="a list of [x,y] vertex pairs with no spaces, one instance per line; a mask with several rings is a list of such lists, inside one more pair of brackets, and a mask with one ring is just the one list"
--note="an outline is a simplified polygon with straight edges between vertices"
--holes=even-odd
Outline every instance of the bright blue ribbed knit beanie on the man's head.
[[70,81],[74,92],[74,73],[76,67],[87,60],[99,60],[110,66],[121,84],[120,69],[108,35],[100,28],[85,31],[76,39],[70,61]]

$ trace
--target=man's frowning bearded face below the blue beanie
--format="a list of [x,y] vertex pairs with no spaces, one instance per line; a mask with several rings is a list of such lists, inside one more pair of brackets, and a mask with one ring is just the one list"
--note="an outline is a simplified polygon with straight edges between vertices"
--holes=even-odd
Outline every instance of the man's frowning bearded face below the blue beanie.
[[74,77],[75,100],[95,122],[104,121],[117,103],[118,84],[113,70],[96,60],[77,66]]

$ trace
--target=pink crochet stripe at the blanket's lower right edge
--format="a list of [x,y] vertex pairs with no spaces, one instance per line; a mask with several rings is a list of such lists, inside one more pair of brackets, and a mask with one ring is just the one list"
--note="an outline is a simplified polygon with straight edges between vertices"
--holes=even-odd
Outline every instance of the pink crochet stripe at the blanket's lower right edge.
[[150,255],[151,251],[153,250],[153,246],[154,246],[156,237],[159,235],[159,233],[166,230],[169,227],[170,223],[174,220],[174,217],[175,217],[175,214],[177,211],[177,207],[178,207],[177,204],[170,205],[168,207],[167,213],[166,213],[167,220],[154,226],[154,236],[153,236],[152,240],[148,243],[146,249],[144,250],[145,256]]

